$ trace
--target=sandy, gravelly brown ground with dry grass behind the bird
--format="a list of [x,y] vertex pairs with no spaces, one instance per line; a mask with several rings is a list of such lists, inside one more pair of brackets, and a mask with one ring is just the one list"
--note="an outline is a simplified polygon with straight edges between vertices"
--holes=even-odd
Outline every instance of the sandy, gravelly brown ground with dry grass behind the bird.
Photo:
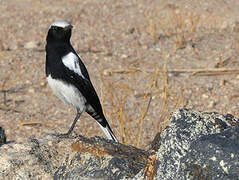
[[[0,126],[16,141],[70,127],[75,110],[45,79],[47,30],[61,19],[121,142],[147,149],[180,107],[239,116],[238,9],[237,0],[0,0]],[[103,136],[86,113],[75,132]]]

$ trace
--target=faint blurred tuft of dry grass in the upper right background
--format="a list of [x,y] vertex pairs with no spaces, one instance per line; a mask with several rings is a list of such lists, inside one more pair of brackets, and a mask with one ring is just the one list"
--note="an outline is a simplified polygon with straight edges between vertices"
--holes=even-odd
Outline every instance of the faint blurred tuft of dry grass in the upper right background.
[[183,49],[187,42],[192,41],[200,20],[199,15],[180,12],[175,6],[168,6],[167,13],[158,7],[145,13],[146,29],[154,42],[160,34],[172,38],[175,49]]

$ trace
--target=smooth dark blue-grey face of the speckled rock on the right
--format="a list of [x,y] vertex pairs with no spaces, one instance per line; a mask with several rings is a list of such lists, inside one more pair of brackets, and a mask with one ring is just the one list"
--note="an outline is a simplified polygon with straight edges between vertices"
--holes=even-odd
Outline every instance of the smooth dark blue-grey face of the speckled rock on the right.
[[179,172],[187,179],[239,179],[239,127],[202,136],[182,158]]

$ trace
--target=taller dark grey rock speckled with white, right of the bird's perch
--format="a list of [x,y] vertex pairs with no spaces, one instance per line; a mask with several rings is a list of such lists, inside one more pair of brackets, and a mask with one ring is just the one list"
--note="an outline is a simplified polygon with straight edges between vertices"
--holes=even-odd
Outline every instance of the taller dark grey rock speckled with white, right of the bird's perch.
[[[154,179],[239,179],[238,127],[233,127],[238,125],[230,114],[175,111],[152,144],[157,154]],[[144,177],[141,170],[134,179]]]

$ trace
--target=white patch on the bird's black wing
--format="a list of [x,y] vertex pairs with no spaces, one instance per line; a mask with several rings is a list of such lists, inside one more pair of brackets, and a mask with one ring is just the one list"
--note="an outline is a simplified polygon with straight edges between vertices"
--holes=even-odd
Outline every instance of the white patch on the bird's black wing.
[[67,68],[74,71],[79,76],[81,76],[85,79],[85,77],[81,73],[81,69],[80,69],[80,65],[79,65],[78,61],[79,61],[79,58],[72,52],[70,52],[69,54],[65,55],[62,58],[62,62]]

